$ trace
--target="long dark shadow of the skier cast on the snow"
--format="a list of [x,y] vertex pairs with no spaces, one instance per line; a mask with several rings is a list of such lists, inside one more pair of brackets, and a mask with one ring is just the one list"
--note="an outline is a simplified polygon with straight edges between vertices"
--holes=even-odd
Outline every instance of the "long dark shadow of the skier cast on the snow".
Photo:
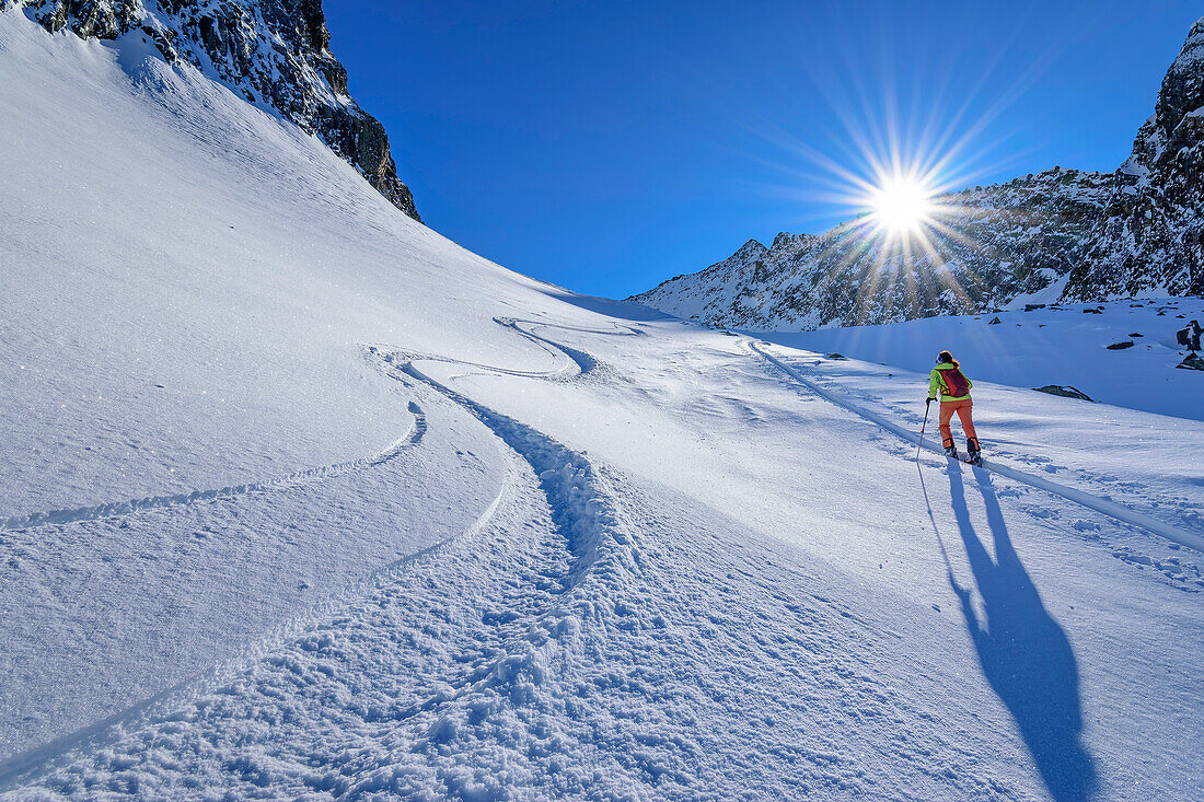
[[960,465],[950,466],[949,485],[985,620],[970,605],[969,588],[960,586],[952,573],[950,584],[961,600],[982,674],[1016,720],[1050,795],[1058,802],[1088,800],[1097,788],[1096,767],[1079,739],[1082,710],[1074,650],[1011,546],[991,473],[974,473],[995,538],[995,560],[970,523]]

